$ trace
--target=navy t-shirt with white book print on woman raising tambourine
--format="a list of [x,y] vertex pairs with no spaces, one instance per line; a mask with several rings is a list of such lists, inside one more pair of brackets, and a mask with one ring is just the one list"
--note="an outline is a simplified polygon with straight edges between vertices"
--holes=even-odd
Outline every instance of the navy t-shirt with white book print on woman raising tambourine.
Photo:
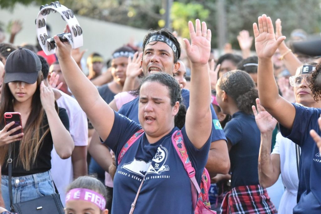
[[[104,144],[115,152],[116,160],[122,147],[139,129],[141,126],[136,122],[115,112],[113,128]],[[146,173],[135,213],[193,213],[190,179],[171,140],[176,130],[179,129],[175,127],[153,144],[148,142],[144,133],[127,150],[114,177],[112,213],[129,213]],[[201,149],[196,149],[187,137],[185,126],[182,135],[200,184],[211,137]]]

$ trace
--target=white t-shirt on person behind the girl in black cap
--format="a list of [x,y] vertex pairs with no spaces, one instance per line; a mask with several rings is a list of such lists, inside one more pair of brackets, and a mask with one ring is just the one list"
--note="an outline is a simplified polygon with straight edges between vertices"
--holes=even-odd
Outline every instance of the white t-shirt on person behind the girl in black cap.
[[[59,91],[61,97],[56,100],[59,107],[65,108],[69,117],[69,132],[74,140],[75,146],[87,146],[88,145],[88,123],[87,116],[82,111],[78,102]],[[71,157],[67,159],[61,159],[55,147],[51,151],[51,175],[55,182],[55,185],[60,194],[60,199],[65,206],[65,193],[66,187],[74,180],[73,165]]]

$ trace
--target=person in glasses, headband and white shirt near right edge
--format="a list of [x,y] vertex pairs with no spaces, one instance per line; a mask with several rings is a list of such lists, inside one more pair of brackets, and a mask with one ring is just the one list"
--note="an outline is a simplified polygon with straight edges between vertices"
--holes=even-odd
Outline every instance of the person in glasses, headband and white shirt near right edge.
[[[310,76],[315,70],[317,63],[308,63],[297,69],[296,75],[290,77],[293,86],[296,103],[310,108],[321,108],[321,103],[316,102],[308,87]],[[259,126],[260,127],[260,126]],[[278,179],[280,173],[285,192],[280,201],[278,213],[285,214],[297,204],[297,192],[299,184],[299,156],[301,149],[290,139],[278,133],[276,144],[271,151],[271,139],[261,138],[261,155],[259,156],[259,178],[265,188],[272,186]],[[273,169],[271,171],[270,169]],[[267,176],[265,176],[267,175]]]

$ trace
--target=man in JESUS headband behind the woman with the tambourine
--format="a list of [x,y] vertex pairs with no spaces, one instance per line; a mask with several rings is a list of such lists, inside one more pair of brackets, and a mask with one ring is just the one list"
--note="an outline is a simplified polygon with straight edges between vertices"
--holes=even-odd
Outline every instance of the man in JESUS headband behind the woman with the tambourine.
[[[170,75],[176,73],[180,67],[178,59],[181,47],[172,34],[166,29],[149,31],[143,40],[143,58],[141,66],[145,76],[155,72],[165,72]],[[191,67],[197,66],[191,64]],[[189,90],[182,89],[183,103],[189,106]],[[131,120],[138,121],[139,97],[126,103],[118,111]],[[218,121],[213,107],[213,121]],[[212,124],[212,144],[206,168],[209,173],[227,174],[230,170],[230,159],[226,145],[226,138],[221,127]]]

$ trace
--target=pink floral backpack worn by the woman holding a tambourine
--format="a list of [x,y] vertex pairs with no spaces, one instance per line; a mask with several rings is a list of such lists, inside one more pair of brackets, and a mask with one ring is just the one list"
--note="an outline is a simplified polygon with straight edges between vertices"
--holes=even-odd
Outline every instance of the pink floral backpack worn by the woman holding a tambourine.
[[[118,156],[118,165],[125,155],[129,147],[144,133],[143,129],[138,130],[124,145]],[[191,190],[192,190],[192,202],[195,214],[213,214],[215,211],[211,210],[211,204],[208,198],[208,190],[210,188],[211,182],[209,180],[209,174],[206,168],[202,173],[201,185],[199,186],[195,178],[195,169],[188,157],[187,150],[184,144],[182,131],[175,131],[172,135],[172,143],[180,157],[184,168],[191,180]],[[196,197],[196,192],[198,193]]]

